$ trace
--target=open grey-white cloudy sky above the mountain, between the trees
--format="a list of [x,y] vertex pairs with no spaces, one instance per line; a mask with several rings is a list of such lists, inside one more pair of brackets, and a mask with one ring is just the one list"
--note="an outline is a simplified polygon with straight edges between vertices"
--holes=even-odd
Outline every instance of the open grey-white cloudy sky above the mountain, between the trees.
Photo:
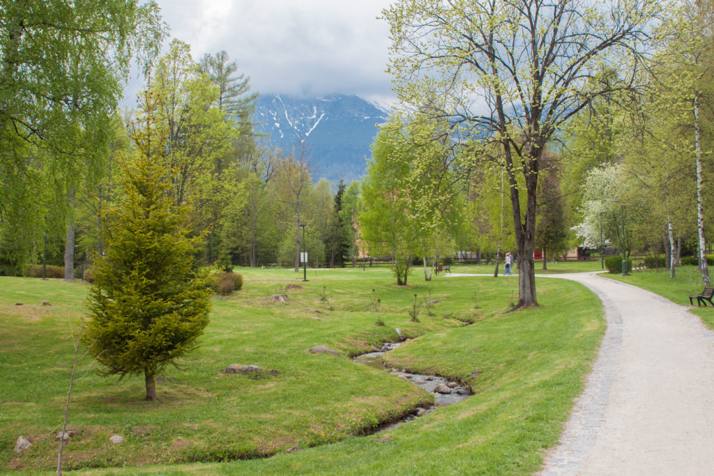
[[390,0],[157,0],[193,59],[226,50],[253,91],[391,96]]

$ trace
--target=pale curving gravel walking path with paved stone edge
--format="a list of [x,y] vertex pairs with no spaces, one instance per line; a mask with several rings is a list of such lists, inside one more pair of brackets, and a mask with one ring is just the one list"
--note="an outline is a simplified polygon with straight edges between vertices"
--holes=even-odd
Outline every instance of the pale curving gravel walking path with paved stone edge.
[[608,329],[540,475],[713,475],[714,333],[665,298],[595,273]]

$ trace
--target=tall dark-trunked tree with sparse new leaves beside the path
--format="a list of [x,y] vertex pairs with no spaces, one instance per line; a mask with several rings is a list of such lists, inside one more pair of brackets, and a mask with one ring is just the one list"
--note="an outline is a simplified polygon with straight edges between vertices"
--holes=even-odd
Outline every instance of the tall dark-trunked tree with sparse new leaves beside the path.
[[[612,86],[588,83],[603,64],[634,91],[651,51],[659,0],[401,0],[383,14],[398,97],[503,148],[519,265],[516,308],[537,305],[533,251],[538,173],[548,143]],[[519,186],[519,176],[521,186]],[[521,195],[525,192],[525,201]]]

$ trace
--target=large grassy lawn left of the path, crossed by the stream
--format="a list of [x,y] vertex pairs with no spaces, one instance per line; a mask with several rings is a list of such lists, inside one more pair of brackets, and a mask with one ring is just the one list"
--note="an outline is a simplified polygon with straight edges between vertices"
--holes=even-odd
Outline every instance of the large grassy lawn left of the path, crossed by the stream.
[[[489,272],[463,265],[452,271]],[[75,384],[69,417],[78,434],[64,449],[65,470],[530,474],[557,441],[605,327],[595,295],[565,280],[538,279],[540,307],[505,313],[518,295],[515,277],[440,274],[425,282],[416,268],[409,285],[398,287],[385,267],[308,270],[305,283],[302,270],[236,272],[244,275],[243,290],[213,298],[200,347],[161,375],[160,402],[143,400],[143,378],[101,378],[81,360],[86,376]],[[0,278],[0,286],[0,467],[52,472],[71,329],[78,328],[87,288],[36,278]],[[268,300],[274,294],[286,294],[287,302]],[[408,315],[415,294],[420,322]],[[375,325],[373,296],[381,299],[383,326]],[[433,315],[423,305],[430,297],[438,300]],[[398,340],[396,328],[410,340],[388,354],[388,365],[448,376],[475,395],[372,434],[433,400],[349,359]],[[314,345],[340,355],[308,353]],[[222,373],[233,363],[263,373]],[[18,455],[12,448],[19,435],[33,444]],[[125,442],[112,445],[111,435]]]

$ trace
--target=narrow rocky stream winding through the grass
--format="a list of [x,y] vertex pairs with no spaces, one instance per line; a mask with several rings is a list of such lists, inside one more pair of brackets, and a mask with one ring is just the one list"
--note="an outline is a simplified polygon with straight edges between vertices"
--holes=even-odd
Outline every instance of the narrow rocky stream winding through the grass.
[[[398,377],[403,378],[404,380],[409,380],[411,383],[417,385],[418,387],[421,387],[428,393],[433,393],[434,405],[433,407],[430,407],[426,410],[421,410],[419,412],[419,415],[410,415],[409,417],[406,417],[401,421],[391,423],[390,425],[385,425],[384,427],[380,428],[380,431],[391,430],[392,428],[396,428],[404,422],[413,420],[417,416],[426,415],[426,413],[432,412],[438,407],[445,407],[446,405],[453,405],[454,403],[463,402],[463,400],[466,400],[468,397],[471,397],[471,392],[468,390],[468,388],[464,388],[462,385],[459,385],[456,382],[451,382],[446,378],[439,377],[438,375],[421,375],[418,373],[406,372],[406,370],[403,369],[397,370],[385,368],[382,356],[385,353],[388,353],[390,350],[398,348],[400,345],[402,345],[402,343],[384,343],[382,345],[381,350],[379,350],[378,352],[358,355],[356,358],[353,358],[353,361],[355,363],[369,365],[370,367],[378,368],[381,370],[388,370],[389,373],[397,375]],[[443,387],[441,388],[442,392],[437,392],[436,388],[439,385],[445,385],[448,390],[451,391],[451,393],[444,393],[443,390],[446,389]]]

